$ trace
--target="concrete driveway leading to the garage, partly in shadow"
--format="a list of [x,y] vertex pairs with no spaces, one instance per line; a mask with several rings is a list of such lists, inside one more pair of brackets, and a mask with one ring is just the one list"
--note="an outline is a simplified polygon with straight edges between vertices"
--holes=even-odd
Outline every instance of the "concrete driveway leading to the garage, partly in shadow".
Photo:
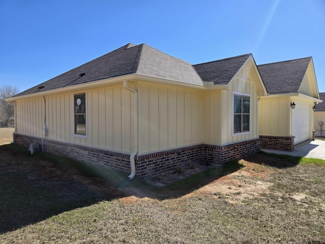
[[271,149],[262,149],[262,151],[265,151],[266,153],[285,154],[325,160],[325,141],[317,139],[314,141],[305,141],[298,145],[295,145],[295,149],[293,151],[280,151]]

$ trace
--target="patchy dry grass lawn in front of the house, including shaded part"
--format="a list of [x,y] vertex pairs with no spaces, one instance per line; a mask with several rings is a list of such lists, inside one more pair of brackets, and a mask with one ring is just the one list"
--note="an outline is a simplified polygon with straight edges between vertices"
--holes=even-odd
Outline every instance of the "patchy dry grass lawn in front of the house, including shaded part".
[[325,242],[324,161],[258,154],[157,189],[15,145],[0,155],[0,243]]

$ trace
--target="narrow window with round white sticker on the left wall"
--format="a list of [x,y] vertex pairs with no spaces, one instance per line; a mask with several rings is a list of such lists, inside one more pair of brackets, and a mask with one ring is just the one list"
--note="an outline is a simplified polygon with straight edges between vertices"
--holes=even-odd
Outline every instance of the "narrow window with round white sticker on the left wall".
[[75,135],[86,135],[86,94],[74,96]]

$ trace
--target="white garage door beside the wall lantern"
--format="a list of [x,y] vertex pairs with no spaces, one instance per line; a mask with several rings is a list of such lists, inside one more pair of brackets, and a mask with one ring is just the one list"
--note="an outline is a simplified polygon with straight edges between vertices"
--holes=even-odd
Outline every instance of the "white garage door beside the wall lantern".
[[293,111],[293,136],[295,145],[309,139],[309,104],[296,103]]

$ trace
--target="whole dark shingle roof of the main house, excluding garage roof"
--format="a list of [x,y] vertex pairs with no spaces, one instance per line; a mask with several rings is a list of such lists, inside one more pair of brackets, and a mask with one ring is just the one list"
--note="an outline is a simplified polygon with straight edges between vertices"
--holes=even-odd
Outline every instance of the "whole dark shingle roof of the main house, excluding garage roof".
[[245,54],[192,66],[182,59],[146,44],[129,43],[14,97],[131,74],[196,85],[203,85],[203,81],[227,84],[250,55]]

